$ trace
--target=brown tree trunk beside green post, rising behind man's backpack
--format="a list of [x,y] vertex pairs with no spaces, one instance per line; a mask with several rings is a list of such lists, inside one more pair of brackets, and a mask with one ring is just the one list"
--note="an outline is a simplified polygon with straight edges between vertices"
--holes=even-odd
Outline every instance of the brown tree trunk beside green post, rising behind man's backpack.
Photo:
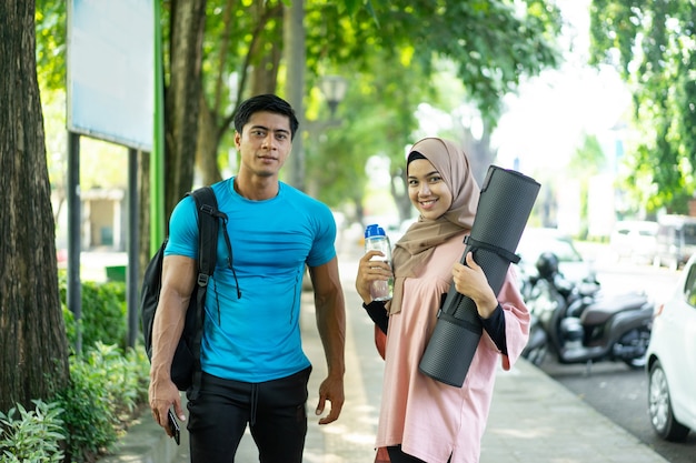
[[166,217],[193,183],[206,0],[171,2],[169,85],[165,97]]

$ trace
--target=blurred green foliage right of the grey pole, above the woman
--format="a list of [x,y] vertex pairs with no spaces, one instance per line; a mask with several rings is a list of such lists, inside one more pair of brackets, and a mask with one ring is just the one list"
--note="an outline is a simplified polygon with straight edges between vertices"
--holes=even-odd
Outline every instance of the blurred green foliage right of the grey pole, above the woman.
[[[371,2],[374,10],[357,9],[346,16],[347,6],[312,1],[306,17],[308,72],[317,77],[328,68],[350,76],[351,85],[340,112],[348,125],[344,130],[352,133],[327,131],[335,148],[325,155],[340,157],[341,165],[356,165],[362,179],[358,184],[366,181],[367,158],[387,157],[392,194],[405,219],[410,204],[402,188],[404,150],[419,135],[418,105],[429,102],[448,110],[474,105],[490,133],[503,110],[503,97],[514,91],[523,77],[558,63],[555,37],[560,16],[547,3],[397,0]],[[449,63],[459,80],[456,93],[440,93],[435,84],[443,63]],[[362,120],[372,122],[371,143],[354,125]],[[481,149],[487,153],[481,162],[488,165],[495,152],[489,147]],[[322,162],[316,165],[324,168]],[[308,167],[308,177],[321,173]],[[359,210],[358,184],[332,195],[355,198]],[[331,204],[329,195],[320,198]]]

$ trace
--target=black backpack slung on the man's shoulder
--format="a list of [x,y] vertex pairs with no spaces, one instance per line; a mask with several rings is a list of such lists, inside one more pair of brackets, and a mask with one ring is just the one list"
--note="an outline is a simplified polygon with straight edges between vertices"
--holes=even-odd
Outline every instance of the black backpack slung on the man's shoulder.
[[[195,385],[196,393],[200,386],[200,343],[203,334],[206,293],[208,280],[215,272],[220,222],[222,222],[225,241],[230,256],[231,245],[227,234],[227,215],[218,211],[218,202],[212,189],[203,187],[188,194],[196,200],[196,210],[198,211],[198,278],[186,312],[183,332],[171,363],[171,381],[179,391],[186,391],[191,385]],[[145,271],[140,292],[142,334],[145,336],[145,349],[150,360],[152,360],[152,322],[155,321],[157,304],[159,303],[166,246],[167,239],[165,239],[159,251],[150,260]]]

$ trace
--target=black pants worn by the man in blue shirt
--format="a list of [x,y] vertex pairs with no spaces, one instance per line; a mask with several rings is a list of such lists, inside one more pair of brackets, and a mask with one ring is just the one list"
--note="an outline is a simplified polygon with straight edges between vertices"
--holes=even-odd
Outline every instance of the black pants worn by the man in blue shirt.
[[191,463],[232,463],[247,424],[261,463],[301,463],[310,372],[264,383],[203,373],[198,399],[188,402]]

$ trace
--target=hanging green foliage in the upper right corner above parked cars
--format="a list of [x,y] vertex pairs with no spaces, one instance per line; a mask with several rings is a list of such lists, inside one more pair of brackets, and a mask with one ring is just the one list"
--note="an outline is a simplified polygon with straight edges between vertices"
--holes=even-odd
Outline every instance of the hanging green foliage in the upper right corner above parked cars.
[[642,133],[626,184],[648,212],[685,213],[695,188],[696,2],[593,0],[590,18],[593,62],[614,64],[630,84]]

